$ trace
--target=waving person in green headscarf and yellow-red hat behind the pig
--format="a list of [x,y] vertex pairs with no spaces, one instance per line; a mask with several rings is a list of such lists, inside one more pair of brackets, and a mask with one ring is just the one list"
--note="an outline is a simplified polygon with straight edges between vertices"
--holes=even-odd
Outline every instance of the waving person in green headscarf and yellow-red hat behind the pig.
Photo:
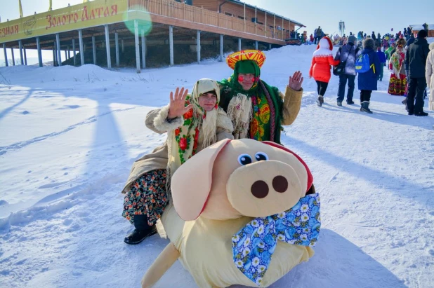
[[[261,51],[256,53],[263,55]],[[303,77],[300,71],[290,76],[283,95],[278,88],[260,79],[258,63],[262,64],[263,60],[232,59],[232,64],[235,62],[234,73],[218,82],[221,88],[220,106],[234,124],[235,139],[250,138],[280,144],[282,125],[291,125],[300,111]]]

